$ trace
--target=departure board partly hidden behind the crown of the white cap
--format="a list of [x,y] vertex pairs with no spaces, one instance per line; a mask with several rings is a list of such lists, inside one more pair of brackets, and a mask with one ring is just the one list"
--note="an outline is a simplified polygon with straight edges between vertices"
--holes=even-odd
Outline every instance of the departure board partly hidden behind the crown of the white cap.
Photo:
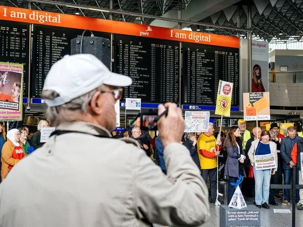
[[[49,69],[64,55],[71,54],[71,40],[82,36],[82,32],[80,29],[34,25],[31,80],[33,98],[40,97]],[[92,32],[94,36],[110,39],[110,33]],[[88,31],[85,35],[87,34],[89,35]]]

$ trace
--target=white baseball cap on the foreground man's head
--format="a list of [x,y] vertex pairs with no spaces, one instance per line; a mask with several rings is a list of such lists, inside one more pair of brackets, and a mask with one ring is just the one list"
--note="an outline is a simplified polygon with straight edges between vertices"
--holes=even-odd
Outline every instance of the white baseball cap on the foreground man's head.
[[43,90],[56,91],[60,96],[46,99],[48,106],[63,105],[106,84],[118,87],[131,85],[131,78],[112,73],[92,54],[65,55],[49,70]]

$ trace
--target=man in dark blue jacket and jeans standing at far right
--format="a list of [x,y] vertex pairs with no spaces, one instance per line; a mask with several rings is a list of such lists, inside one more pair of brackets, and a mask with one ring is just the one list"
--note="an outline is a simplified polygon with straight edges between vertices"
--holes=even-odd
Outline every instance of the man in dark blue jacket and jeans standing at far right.
[[[292,176],[292,168],[295,166],[295,163],[292,161],[291,158],[291,151],[294,146],[294,144],[298,141],[300,141],[301,137],[296,135],[296,130],[294,127],[288,127],[287,128],[288,136],[282,138],[281,142],[281,149],[280,154],[283,158],[283,173],[284,173],[284,185],[290,185],[290,179]],[[296,173],[296,179],[295,183],[299,183],[299,174],[298,169]],[[284,201],[282,202],[282,205],[287,205],[290,203],[290,190],[284,189]],[[299,190],[296,189],[296,200],[293,202],[299,202]]]

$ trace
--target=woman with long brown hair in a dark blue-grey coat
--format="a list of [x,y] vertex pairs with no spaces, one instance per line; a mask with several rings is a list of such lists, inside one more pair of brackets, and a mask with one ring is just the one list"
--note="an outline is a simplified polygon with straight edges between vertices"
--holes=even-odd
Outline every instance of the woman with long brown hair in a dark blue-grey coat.
[[[242,142],[239,139],[240,129],[237,126],[233,126],[230,128],[223,142],[223,150],[227,151],[224,175],[229,177],[227,204],[230,203],[235,192],[235,187],[231,183],[236,183],[239,175],[244,175],[241,163],[244,163],[245,155],[242,149]],[[241,188],[241,185],[239,186]]]

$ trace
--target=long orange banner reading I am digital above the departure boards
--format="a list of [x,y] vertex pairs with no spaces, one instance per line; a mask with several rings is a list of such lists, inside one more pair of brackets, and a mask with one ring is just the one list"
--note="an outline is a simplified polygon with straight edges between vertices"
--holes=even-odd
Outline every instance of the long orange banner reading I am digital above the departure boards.
[[0,6],[0,20],[239,48],[239,38],[91,17]]

